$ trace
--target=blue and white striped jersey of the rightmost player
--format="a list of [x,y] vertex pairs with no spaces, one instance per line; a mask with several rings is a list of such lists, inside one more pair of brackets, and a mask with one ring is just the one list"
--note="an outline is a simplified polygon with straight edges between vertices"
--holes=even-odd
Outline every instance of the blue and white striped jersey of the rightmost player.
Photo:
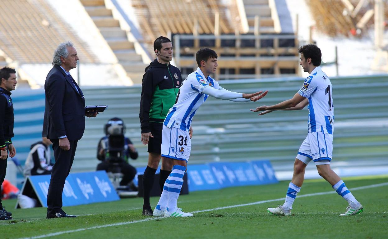
[[333,134],[333,86],[329,77],[318,66],[305,79],[299,95],[308,98],[308,132]]

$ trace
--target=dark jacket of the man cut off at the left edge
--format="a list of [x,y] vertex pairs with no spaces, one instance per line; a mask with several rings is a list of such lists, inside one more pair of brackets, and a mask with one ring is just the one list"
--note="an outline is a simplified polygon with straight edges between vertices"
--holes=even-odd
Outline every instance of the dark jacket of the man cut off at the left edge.
[[0,148],[14,137],[14,105],[11,93],[0,87]]

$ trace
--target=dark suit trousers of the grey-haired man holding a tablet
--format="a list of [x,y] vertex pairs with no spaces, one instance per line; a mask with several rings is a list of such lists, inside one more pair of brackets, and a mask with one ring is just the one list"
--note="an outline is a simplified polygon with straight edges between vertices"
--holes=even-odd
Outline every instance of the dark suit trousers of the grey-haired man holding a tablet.
[[50,139],[54,150],[55,163],[52,166],[49,191],[47,193],[47,214],[62,212],[62,192],[68,177],[74,154],[77,148],[77,140],[69,140],[70,150],[59,148],[59,139]]

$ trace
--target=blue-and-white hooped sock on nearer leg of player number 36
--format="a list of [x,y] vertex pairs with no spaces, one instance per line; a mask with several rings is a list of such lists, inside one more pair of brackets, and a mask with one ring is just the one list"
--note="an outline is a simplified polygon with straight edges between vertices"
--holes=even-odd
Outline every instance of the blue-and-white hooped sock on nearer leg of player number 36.
[[186,167],[181,165],[174,165],[168,181],[168,200],[167,211],[177,210],[177,201],[183,185],[183,175],[185,175]]

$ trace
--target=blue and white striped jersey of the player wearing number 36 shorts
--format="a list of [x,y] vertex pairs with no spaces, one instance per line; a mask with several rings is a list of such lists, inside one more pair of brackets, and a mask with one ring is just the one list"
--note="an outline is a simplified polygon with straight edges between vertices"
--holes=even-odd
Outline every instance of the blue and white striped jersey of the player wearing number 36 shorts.
[[206,79],[199,67],[182,82],[175,105],[170,108],[163,124],[169,128],[175,127],[189,131],[191,120],[196,110],[205,102],[208,95],[202,93],[206,87],[222,89],[213,78]]

